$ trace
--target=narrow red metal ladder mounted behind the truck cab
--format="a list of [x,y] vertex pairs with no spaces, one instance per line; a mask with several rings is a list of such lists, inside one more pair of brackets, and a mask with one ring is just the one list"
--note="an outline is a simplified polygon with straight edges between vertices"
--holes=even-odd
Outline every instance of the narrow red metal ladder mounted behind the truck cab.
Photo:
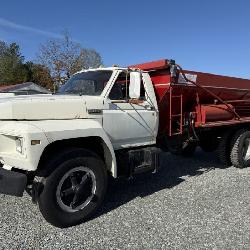
[[[178,95],[174,95],[173,88],[170,87],[170,92],[169,92],[169,136],[182,134],[182,123],[183,123],[182,102],[183,102],[182,93],[178,94]],[[177,105],[177,107],[175,106],[173,108],[173,104]],[[178,124],[178,123],[179,123],[179,126],[176,126],[176,124]]]

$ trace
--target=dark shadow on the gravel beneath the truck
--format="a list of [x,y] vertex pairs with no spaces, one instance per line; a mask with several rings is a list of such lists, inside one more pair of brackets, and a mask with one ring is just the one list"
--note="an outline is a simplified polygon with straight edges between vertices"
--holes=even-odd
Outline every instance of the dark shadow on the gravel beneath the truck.
[[163,153],[161,169],[157,174],[140,174],[131,180],[111,179],[107,196],[95,217],[108,213],[136,197],[145,197],[163,189],[170,189],[187,178],[201,175],[222,166],[214,153],[197,150],[191,158]]

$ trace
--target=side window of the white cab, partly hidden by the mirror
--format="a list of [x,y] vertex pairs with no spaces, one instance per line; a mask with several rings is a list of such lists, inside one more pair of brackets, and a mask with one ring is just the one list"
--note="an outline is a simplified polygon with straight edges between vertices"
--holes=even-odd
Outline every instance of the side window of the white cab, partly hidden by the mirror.
[[[130,75],[127,72],[121,72],[116,82],[114,83],[110,93],[110,100],[128,100],[129,97],[129,83],[130,83]],[[141,80],[141,94],[140,100],[145,100],[145,88],[144,84]]]

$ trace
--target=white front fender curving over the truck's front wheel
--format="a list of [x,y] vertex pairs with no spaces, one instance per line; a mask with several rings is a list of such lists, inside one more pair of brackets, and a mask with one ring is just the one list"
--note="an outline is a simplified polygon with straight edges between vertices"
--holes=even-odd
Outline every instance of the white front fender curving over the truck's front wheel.
[[[117,164],[113,146],[106,132],[103,130],[100,120],[72,119],[72,120],[44,120],[44,121],[11,121],[6,122],[4,134],[8,135],[7,128],[18,128],[18,137],[23,137],[25,155],[0,152],[3,164],[28,171],[35,171],[45,148],[53,142],[84,138],[99,137],[103,142],[104,156],[107,168],[113,177],[117,177]],[[32,133],[30,134],[29,132]],[[3,131],[1,131],[3,133]],[[13,130],[12,130],[13,134]],[[15,136],[15,133],[13,134]],[[31,146],[31,140],[41,140],[39,145]],[[12,154],[13,155],[13,154]]]

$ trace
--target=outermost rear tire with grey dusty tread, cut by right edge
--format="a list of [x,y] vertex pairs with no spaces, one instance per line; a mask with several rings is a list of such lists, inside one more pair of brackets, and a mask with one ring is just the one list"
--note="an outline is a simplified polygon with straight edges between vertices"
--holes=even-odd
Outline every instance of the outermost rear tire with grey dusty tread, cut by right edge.
[[250,149],[250,131],[246,129],[241,129],[236,132],[232,138],[232,150],[230,158],[232,164],[236,168],[246,168],[250,167],[250,154],[248,149]]

